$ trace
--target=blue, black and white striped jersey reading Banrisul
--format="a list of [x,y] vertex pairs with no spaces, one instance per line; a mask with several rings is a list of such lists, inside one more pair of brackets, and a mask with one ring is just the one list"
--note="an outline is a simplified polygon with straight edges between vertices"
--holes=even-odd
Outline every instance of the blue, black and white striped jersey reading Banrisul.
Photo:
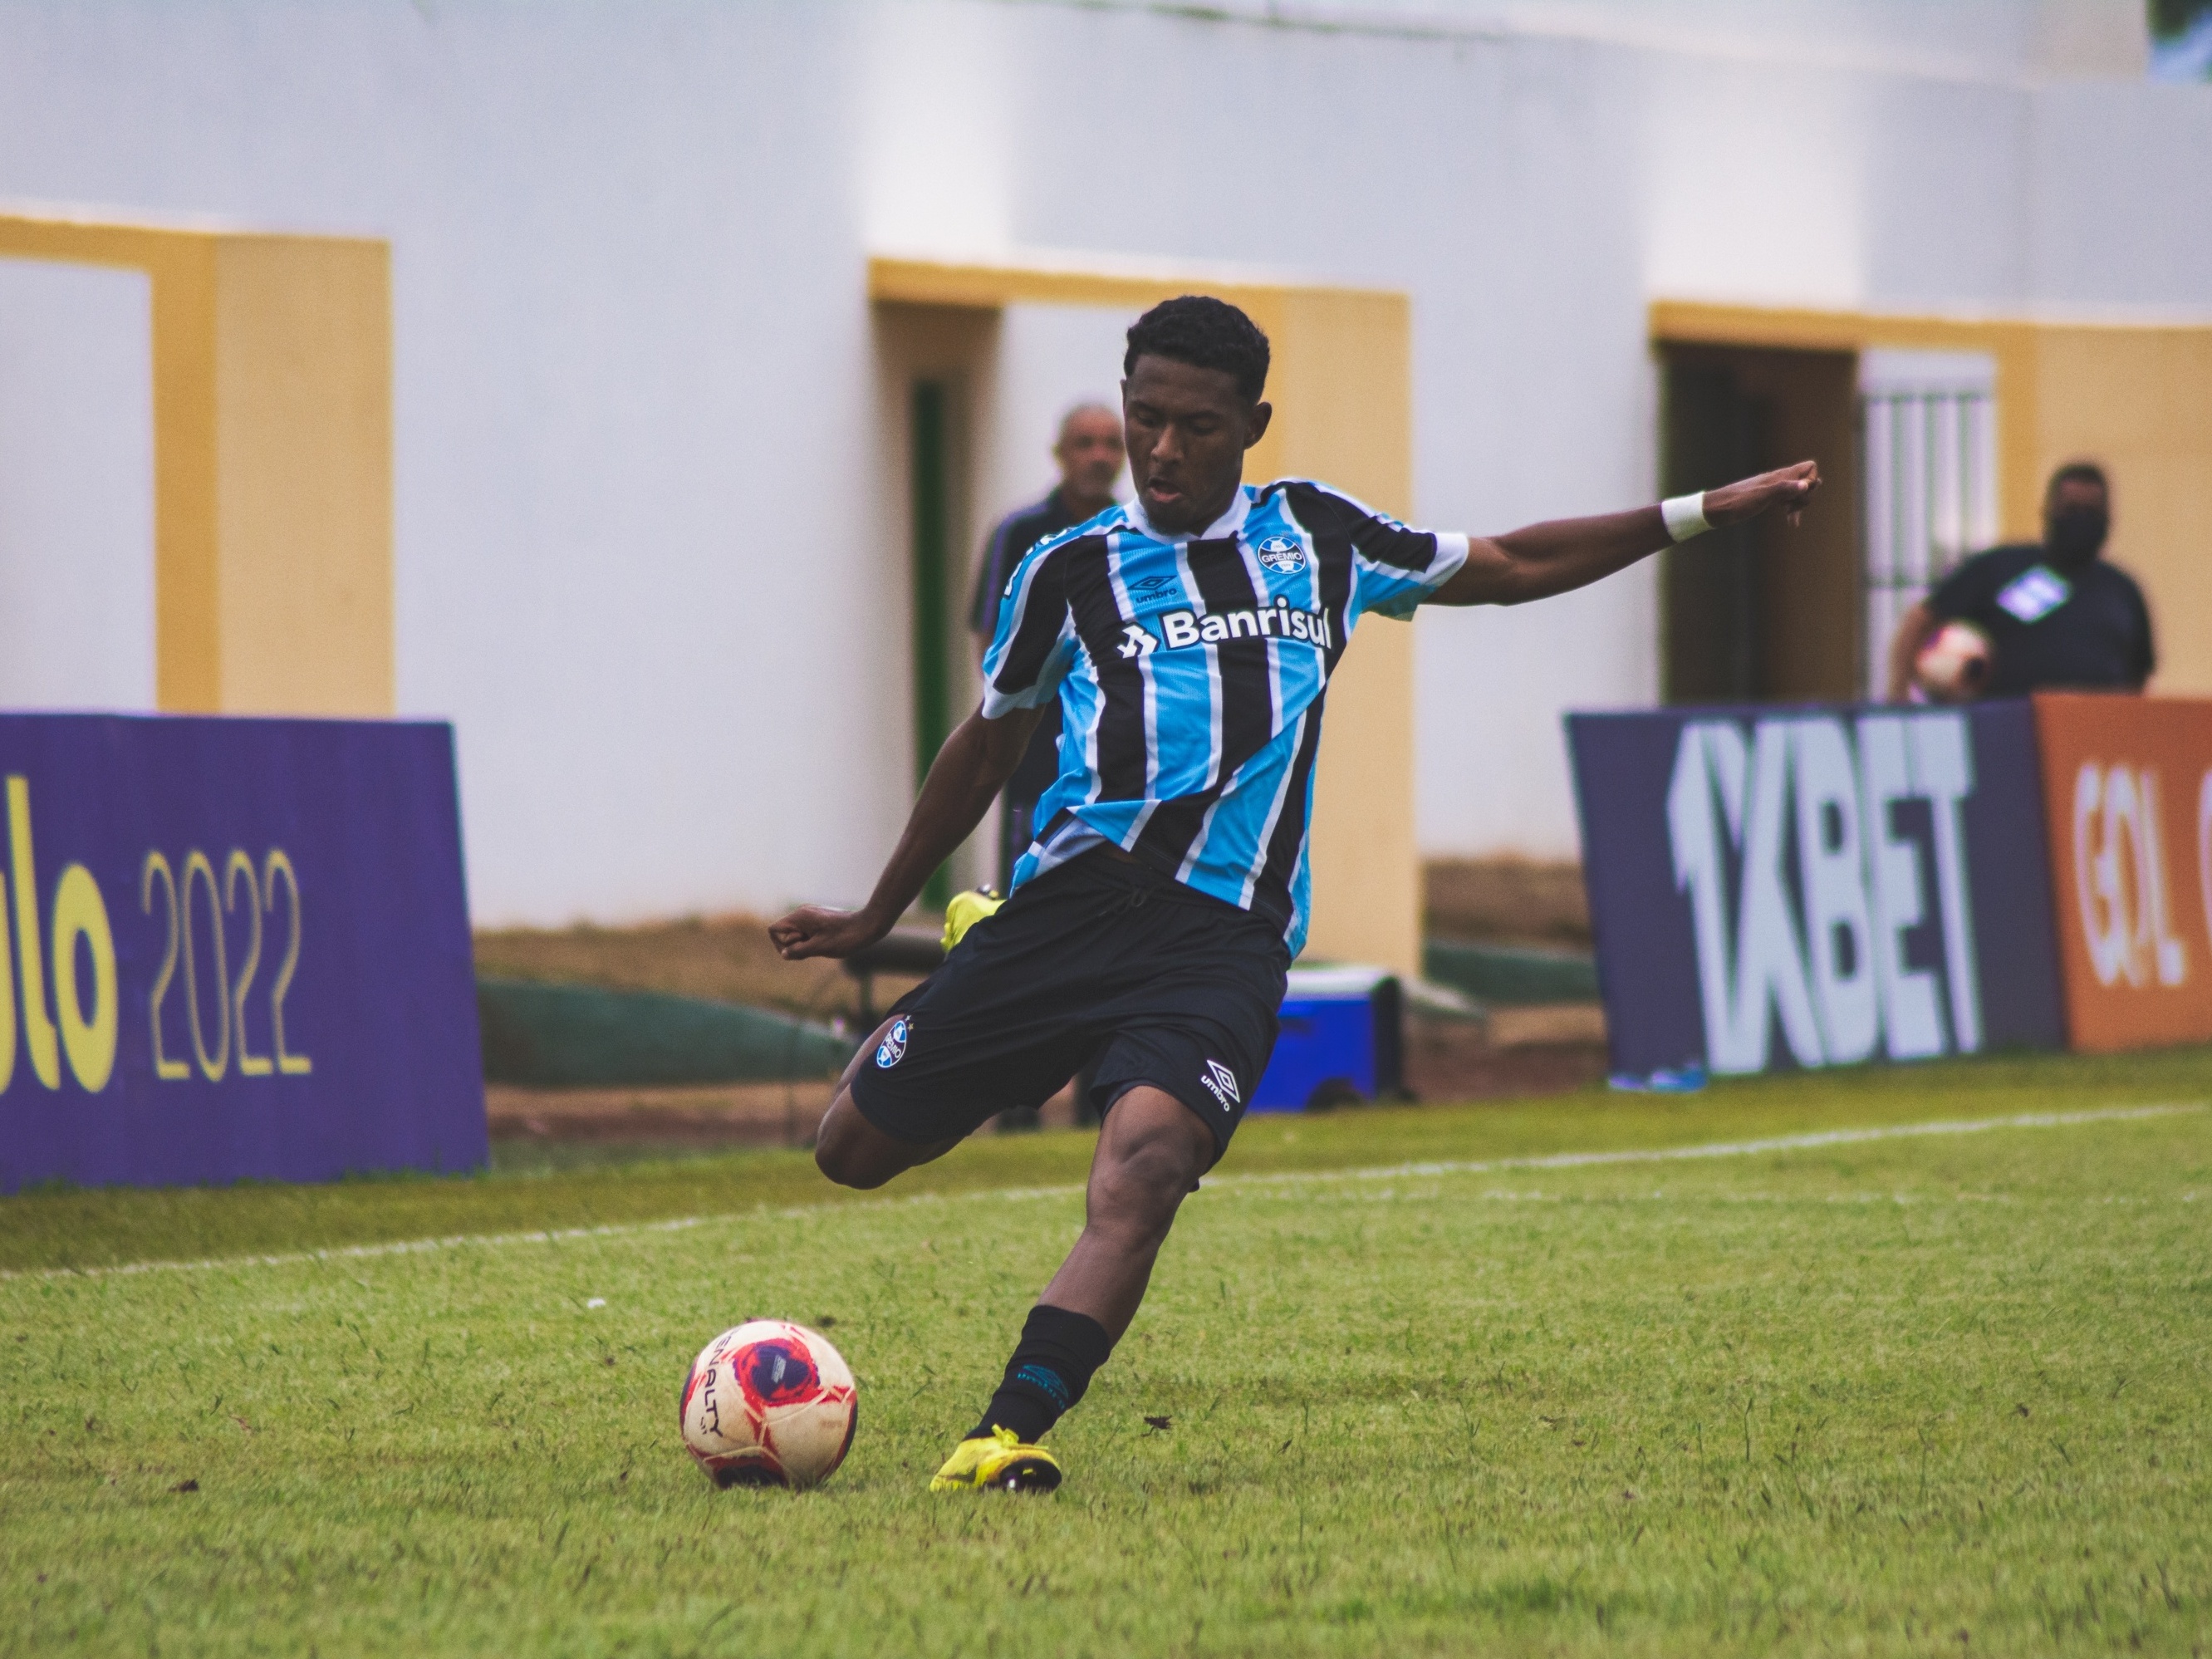
[[1305,942],[1307,821],[1329,672],[1367,611],[1409,615],[1467,562],[1298,478],[1239,489],[1203,535],[1113,507],[1015,566],[982,712],[1060,697],[1060,776],[1013,885],[1110,841]]

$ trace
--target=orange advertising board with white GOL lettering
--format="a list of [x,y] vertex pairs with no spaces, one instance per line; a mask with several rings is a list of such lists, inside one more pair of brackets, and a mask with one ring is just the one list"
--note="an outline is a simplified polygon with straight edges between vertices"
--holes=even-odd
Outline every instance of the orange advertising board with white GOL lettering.
[[2068,1044],[2212,1040],[2212,701],[2042,692],[2035,743]]

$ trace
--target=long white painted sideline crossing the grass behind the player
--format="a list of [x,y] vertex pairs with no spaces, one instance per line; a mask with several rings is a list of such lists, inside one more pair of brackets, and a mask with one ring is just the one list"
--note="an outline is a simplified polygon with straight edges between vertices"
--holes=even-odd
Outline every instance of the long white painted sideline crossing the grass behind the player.
[[[1340,1181],[1402,1181],[1433,1175],[1498,1175],[1502,1170],[1582,1170],[1608,1164],[1686,1164],[1721,1157],[1759,1157],[1761,1152],[1807,1152],[1823,1146],[1858,1146],[1860,1141],[1898,1141],[1924,1135],[1982,1135],[1997,1128],[2073,1128],[2077,1124],[2124,1124],[2143,1117],[2179,1117],[2208,1110],[2212,1102],[2179,1102],[2168,1106],[2110,1106],[2081,1113],[2020,1113],[2015,1117],[1962,1117],[1936,1124],[1885,1124],[1880,1128],[1825,1128],[1805,1135],[1772,1135],[1756,1141],[1703,1141],[1697,1146],[1655,1146],[1617,1152],[1544,1152],[1535,1157],[1438,1159],[1429,1164],[1376,1164],[1356,1170],[1283,1170],[1279,1175],[1223,1175],[1206,1183],[1208,1192],[1265,1192],[1270,1188],[1318,1186]],[[830,1210],[900,1210],[925,1203],[1026,1201],[1082,1197],[1079,1183],[982,1188],[975,1192],[916,1192],[907,1199],[856,1199],[827,1203],[792,1203],[783,1208],[726,1210],[675,1221],[624,1221],[604,1228],[546,1228],[538,1232],[462,1232],[445,1239],[403,1239],[396,1243],[341,1245],[332,1250],[292,1250],[263,1256],[215,1256],[206,1261],[128,1261],[115,1267],[38,1267],[0,1272],[9,1279],[124,1279],[155,1272],[221,1272],[230,1267],[292,1267],[316,1261],[372,1261],[376,1256],[418,1256],[436,1250],[489,1250],[515,1243],[566,1243],[573,1239],[628,1239],[655,1232],[686,1232],[717,1221],[781,1221]],[[2192,1194],[2194,1197],[2194,1194]]]

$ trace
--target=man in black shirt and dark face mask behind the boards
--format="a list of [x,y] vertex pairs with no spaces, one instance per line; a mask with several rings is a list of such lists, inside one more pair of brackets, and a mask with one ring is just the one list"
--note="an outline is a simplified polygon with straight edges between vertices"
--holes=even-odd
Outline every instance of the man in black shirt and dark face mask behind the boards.
[[2101,467],[2075,460],[2051,473],[2042,542],[1978,553],[1905,613],[1889,646],[1889,701],[1905,701],[1913,664],[1947,622],[1989,637],[1986,697],[2143,690],[2157,666],[2150,608],[2135,577],[2099,557],[2110,524]]

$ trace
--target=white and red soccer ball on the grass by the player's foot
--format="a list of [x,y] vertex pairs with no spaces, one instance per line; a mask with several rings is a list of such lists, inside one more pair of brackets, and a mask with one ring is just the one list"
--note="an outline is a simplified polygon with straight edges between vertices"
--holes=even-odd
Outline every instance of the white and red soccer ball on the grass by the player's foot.
[[818,1486],[845,1462],[860,1400],[823,1336],[748,1318],[699,1349],[679,1420],[717,1486]]

